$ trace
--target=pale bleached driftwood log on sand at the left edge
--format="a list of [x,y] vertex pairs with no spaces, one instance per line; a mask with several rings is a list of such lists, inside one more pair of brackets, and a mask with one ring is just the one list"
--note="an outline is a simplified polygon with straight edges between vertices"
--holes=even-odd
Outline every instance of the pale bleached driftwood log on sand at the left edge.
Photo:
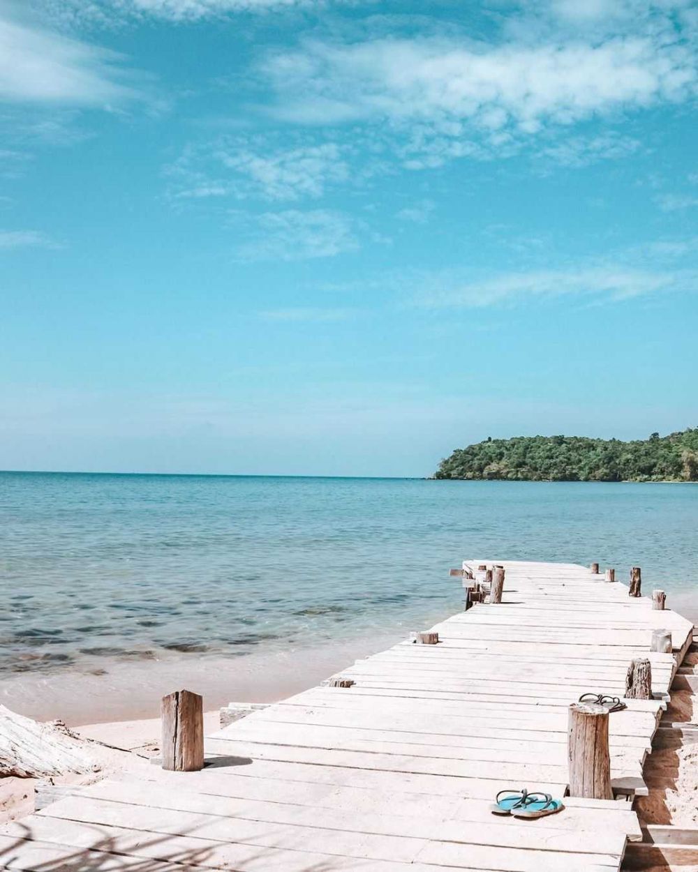
[[0,775],[41,778],[99,771],[99,763],[59,720],[40,724],[0,705]]

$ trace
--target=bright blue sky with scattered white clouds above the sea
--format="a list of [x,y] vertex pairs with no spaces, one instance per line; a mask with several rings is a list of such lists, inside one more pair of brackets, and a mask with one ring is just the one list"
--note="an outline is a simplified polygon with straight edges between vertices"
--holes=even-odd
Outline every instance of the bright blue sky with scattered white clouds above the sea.
[[698,3],[0,0],[0,468],[698,426]]

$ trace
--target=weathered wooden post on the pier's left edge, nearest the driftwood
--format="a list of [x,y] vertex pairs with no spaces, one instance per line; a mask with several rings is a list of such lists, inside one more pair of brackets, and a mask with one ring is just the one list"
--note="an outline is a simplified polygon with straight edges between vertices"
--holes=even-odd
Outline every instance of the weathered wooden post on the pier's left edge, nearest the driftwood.
[[175,691],[162,698],[162,768],[198,772],[203,768],[203,698]]

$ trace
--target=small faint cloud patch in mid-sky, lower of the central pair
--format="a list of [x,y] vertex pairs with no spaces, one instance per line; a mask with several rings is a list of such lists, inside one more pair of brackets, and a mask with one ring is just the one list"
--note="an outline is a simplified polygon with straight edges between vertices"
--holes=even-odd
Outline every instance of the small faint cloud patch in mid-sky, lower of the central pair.
[[330,209],[286,209],[257,215],[254,238],[238,246],[237,254],[243,260],[295,261],[358,248],[348,215]]

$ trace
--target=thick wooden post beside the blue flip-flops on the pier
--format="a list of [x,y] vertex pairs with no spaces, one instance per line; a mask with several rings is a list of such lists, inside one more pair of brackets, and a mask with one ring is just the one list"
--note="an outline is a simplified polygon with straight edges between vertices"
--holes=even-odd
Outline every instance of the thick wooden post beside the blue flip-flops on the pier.
[[608,709],[598,703],[572,703],[568,722],[570,796],[612,800]]

